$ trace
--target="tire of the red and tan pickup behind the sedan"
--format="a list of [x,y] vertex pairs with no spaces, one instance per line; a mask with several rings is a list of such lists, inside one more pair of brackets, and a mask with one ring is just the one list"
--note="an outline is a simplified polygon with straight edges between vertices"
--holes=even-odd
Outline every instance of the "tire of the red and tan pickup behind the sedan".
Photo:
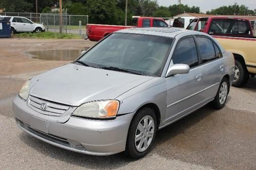
[[232,86],[243,87],[249,80],[249,72],[244,63],[240,60],[235,61],[234,66],[234,82]]

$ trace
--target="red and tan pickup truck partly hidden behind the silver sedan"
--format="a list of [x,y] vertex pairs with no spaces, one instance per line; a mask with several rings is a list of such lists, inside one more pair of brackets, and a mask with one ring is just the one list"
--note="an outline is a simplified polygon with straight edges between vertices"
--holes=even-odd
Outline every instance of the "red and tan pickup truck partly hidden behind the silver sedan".
[[187,30],[210,34],[225,50],[233,53],[236,62],[233,86],[244,86],[249,75],[256,75],[256,37],[248,19],[226,16],[195,18]]

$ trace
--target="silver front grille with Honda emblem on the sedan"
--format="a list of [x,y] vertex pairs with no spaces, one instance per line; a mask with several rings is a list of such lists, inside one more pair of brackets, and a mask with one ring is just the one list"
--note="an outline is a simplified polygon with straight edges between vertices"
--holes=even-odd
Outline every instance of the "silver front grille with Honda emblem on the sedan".
[[32,95],[29,96],[29,106],[41,114],[51,116],[60,116],[70,108],[68,105],[50,102]]

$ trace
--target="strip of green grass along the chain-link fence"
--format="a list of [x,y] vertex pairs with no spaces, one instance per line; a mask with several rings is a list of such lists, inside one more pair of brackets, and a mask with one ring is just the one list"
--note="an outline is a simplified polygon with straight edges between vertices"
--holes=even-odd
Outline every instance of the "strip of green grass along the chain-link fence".
[[43,32],[43,33],[20,33],[15,34],[13,37],[17,38],[41,38],[41,39],[79,39],[81,36],[75,34],[65,34],[65,33],[53,33],[53,32]]

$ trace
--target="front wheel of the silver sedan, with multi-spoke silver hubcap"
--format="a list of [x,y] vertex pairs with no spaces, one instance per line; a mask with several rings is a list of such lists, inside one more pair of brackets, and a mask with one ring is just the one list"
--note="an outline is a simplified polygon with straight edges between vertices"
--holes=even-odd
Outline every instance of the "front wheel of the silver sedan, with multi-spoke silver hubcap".
[[[149,128],[145,128],[146,124],[144,124],[144,120],[146,119],[148,120],[147,125],[150,125]],[[141,131],[143,130],[143,132],[141,132],[140,129]],[[154,110],[152,108],[143,108],[140,110],[131,122],[126,139],[125,155],[132,159],[139,159],[145,156],[151,150],[152,143],[156,136],[156,130],[157,118]],[[135,141],[136,135],[138,136],[137,141]],[[145,141],[147,141],[146,145]]]

